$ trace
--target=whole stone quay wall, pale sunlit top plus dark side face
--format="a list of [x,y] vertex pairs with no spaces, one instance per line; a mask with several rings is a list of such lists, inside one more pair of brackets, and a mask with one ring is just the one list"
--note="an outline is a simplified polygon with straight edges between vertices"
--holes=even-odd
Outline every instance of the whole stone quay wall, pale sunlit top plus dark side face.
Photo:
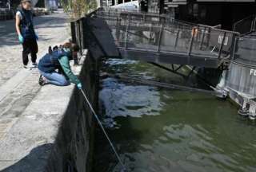
[[[92,76],[97,68],[90,57],[82,59],[80,80],[90,101],[98,98],[98,80]],[[97,74],[95,72],[94,74]],[[0,170],[6,171],[77,171],[90,169],[91,135],[94,123],[74,84],[67,87],[46,85],[0,143]],[[0,126],[1,127],[1,126]]]

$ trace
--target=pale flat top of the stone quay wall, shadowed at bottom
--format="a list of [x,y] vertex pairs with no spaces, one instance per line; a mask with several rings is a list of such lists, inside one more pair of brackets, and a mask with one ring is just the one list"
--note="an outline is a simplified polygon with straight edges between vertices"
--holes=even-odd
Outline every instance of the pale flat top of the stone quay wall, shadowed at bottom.
[[43,171],[74,86],[43,87],[0,143],[0,169]]

